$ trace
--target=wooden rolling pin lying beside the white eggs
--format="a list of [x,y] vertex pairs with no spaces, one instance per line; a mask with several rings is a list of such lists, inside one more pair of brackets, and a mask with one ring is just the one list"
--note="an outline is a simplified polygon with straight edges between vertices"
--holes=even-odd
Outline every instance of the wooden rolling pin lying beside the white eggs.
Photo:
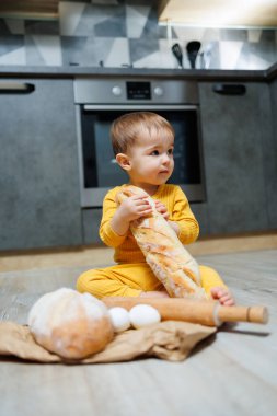
[[223,322],[253,322],[266,324],[265,307],[223,307],[216,301],[199,301],[181,298],[103,298],[107,308],[123,307],[130,310],[136,304],[155,308],[163,321],[185,321],[207,326],[220,326]]

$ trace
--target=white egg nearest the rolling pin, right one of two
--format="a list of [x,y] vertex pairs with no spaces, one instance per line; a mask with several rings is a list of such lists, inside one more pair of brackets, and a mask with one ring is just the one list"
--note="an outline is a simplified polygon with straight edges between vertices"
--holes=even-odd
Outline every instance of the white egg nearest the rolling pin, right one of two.
[[129,316],[131,325],[137,330],[161,321],[160,312],[150,304],[137,304],[130,309]]

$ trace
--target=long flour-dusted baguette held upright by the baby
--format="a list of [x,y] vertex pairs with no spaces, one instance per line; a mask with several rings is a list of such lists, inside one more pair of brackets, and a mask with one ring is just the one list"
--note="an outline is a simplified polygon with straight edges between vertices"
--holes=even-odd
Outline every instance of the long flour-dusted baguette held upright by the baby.
[[131,232],[146,262],[172,298],[206,298],[200,287],[197,262],[187,252],[168,221],[155,209],[154,200],[141,188],[125,186],[117,194],[117,203],[132,195],[148,196],[152,213],[131,221]]

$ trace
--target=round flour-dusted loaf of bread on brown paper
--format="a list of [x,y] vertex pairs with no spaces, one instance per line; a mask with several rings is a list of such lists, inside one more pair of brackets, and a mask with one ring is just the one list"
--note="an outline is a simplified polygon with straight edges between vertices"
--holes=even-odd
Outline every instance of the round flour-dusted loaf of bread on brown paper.
[[99,353],[114,336],[105,304],[68,288],[39,298],[28,313],[28,326],[37,344],[68,359]]

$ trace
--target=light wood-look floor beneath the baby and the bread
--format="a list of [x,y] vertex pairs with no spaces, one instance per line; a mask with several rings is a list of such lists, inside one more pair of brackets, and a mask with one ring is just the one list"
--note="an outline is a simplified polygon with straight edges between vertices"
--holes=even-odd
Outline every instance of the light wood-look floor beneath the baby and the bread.
[[[0,319],[25,323],[41,294],[74,287],[95,258],[83,265],[7,267],[0,273]],[[217,268],[238,303],[267,305],[269,323],[222,327],[183,362],[150,358],[69,367],[2,357],[0,415],[277,415],[277,249],[197,259]]]

